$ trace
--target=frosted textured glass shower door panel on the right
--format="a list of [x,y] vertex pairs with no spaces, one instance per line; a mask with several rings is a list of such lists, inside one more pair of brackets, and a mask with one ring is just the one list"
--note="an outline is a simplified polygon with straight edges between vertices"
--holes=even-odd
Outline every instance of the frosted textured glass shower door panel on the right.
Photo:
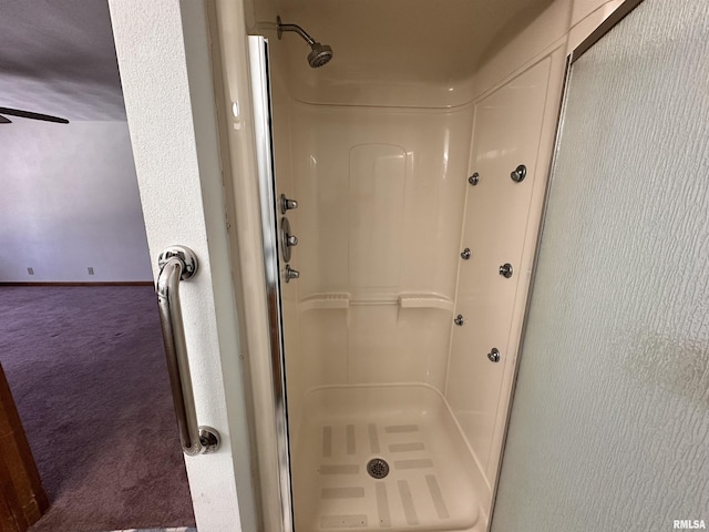
[[709,526],[709,2],[572,66],[493,531]]

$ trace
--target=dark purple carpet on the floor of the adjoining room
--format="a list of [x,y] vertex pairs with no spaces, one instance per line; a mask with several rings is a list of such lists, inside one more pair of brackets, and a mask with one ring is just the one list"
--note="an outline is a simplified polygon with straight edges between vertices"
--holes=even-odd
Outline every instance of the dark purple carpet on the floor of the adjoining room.
[[0,364],[50,510],[31,532],[194,526],[155,294],[0,287]]

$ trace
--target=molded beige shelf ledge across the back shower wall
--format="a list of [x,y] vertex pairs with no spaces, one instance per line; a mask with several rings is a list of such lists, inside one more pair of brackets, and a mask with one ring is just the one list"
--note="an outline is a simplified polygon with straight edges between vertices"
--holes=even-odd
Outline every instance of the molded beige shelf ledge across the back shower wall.
[[300,300],[299,310],[338,309],[359,305],[395,305],[399,308],[438,308],[453,311],[453,301],[440,294],[314,294]]

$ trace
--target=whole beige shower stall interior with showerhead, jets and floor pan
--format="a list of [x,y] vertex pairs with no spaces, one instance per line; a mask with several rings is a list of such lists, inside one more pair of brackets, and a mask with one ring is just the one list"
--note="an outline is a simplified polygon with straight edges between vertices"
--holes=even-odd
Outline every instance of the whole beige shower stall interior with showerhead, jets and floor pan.
[[261,497],[298,532],[484,531],[566,53],[606,2],[369,3],[250,13]]

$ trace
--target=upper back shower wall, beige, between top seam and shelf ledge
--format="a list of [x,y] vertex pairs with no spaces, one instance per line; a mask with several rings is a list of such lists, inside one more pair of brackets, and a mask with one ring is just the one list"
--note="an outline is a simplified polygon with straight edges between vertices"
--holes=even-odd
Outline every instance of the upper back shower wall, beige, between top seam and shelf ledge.
[[[386,293],[453,296],[458,256],[452,252],[460,239],[471,123],[472,108],[435,112],[294,105],[301,299],[318,293],[372,291],[382,286],[373,277],[383,273],[376,274],[371,264],[349,256],[350,243],[364,239],[377,250],[392,246],[402,252],[398,258],[400,280],[387,282]],[[363,145],[380,146],[370,146],[372,150],[397,147],[397,176],[384,166],[378,171],[374,161],[384,160],[373,153],[368,155],[366,171],[361,166]],[[400,166],[402,152],[405,170]],[[387,227],[392,211],[399,213],[395,225],[402,227],[400,233]],[[368,255],[374,264],[380,260]],[[351,268],[369,270],[367,286],[357,280],[364,280],[364,273]]]

